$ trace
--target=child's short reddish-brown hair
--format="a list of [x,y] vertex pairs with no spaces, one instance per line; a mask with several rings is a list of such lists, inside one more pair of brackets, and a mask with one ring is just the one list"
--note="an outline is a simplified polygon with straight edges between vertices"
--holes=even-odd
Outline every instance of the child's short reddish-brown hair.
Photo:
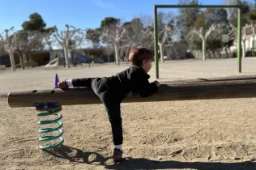
[[141,66],[143,64],[143,60],[149,61],[153,59],[153,53],[147,48],[139,46],[130,49],[129,61],[132,65]]

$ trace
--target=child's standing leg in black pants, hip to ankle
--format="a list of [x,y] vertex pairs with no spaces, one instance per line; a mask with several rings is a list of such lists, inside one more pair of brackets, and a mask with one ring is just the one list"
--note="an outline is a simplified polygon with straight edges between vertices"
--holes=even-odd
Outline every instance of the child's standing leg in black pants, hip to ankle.
[[118,93],[109,90],[104,79],[88,78],[86,82],[87,87],[92,87],[92,90],[100,97],[100,100],[105,105],[112,128],[114,145],[122,144],[122,117],[120,108],[122,99],[120,99]]

